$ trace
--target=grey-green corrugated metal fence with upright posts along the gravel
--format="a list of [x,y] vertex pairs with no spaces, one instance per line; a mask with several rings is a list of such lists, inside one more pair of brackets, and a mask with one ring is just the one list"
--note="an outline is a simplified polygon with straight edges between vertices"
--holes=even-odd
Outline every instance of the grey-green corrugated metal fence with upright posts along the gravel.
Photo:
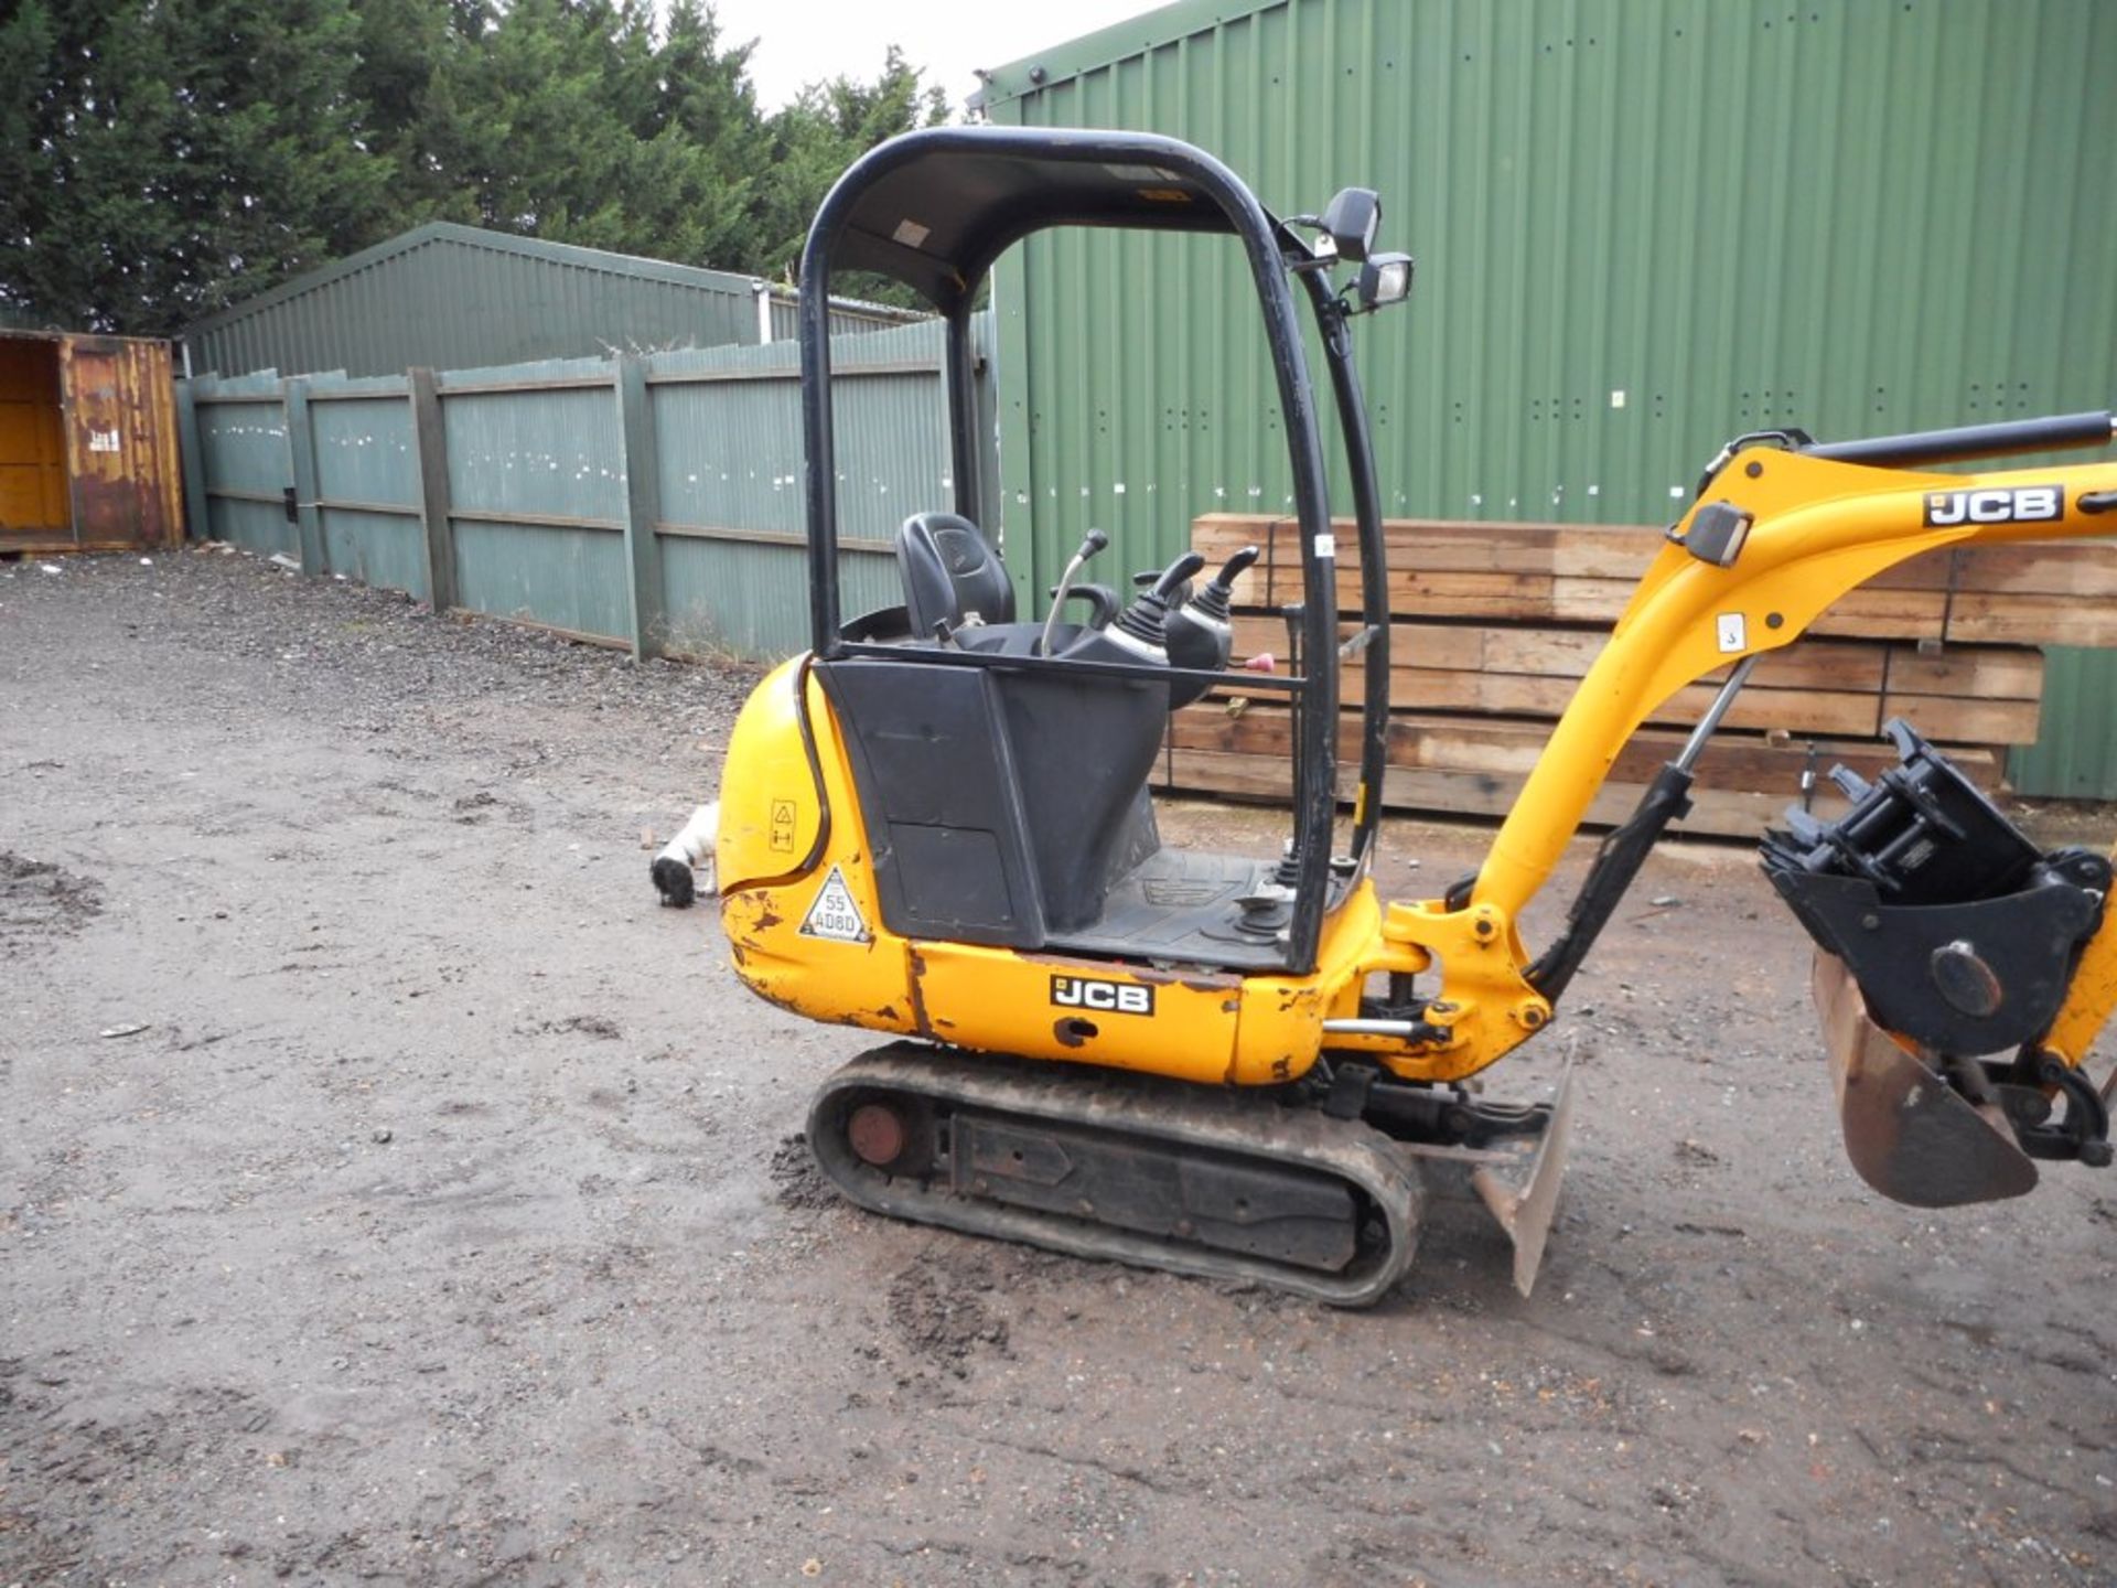
[[[849,614],[902,599],[895,527],[953,500],[942,335],[836,345]],[[191,381],[201,523],[421,599],[438,559],[445,603],[641,650],[807,646],[796,345],[449,371],[432,392],[421,428],[402,375]]]

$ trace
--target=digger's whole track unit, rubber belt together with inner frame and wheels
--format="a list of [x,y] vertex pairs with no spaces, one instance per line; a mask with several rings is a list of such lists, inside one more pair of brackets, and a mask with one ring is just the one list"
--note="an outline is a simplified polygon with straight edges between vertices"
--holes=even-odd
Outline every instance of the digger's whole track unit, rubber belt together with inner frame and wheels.
[[904,1042],[824,1082],[809,1143],[874,1213],[1338,1306],[1385,1296],[1418,1245],[1397,1143],[1253,1090]]

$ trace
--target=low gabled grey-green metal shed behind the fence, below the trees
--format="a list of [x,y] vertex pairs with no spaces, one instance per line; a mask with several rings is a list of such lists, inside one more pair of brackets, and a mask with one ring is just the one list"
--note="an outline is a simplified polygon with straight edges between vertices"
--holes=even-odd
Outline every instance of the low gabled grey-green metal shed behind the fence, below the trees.
[[[832,326],[917,318],[847,301]],[[792,335],[794,294],[752,275],[434,222],[197,322],[184,351],[197,375],[398,375]]]

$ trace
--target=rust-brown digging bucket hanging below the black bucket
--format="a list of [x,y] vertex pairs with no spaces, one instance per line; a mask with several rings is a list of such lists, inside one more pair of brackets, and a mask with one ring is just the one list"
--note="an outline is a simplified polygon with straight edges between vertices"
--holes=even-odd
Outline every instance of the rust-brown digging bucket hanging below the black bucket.
[[2037,1165],[2005,1118],[1977,1109],[1897,1046],[1869,1018],[1859,982],[1835,955],[1816,953],[1814,995],[1846,1156],[1861,1179],[1910,1207],[1996,1203],[2034,1190]]

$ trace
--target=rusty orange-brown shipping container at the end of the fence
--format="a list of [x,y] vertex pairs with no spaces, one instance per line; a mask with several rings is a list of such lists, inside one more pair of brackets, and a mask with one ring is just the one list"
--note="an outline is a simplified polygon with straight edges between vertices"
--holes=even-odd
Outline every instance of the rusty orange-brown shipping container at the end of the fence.
[[0,555],[182,534],[169,343],[0,332]]

